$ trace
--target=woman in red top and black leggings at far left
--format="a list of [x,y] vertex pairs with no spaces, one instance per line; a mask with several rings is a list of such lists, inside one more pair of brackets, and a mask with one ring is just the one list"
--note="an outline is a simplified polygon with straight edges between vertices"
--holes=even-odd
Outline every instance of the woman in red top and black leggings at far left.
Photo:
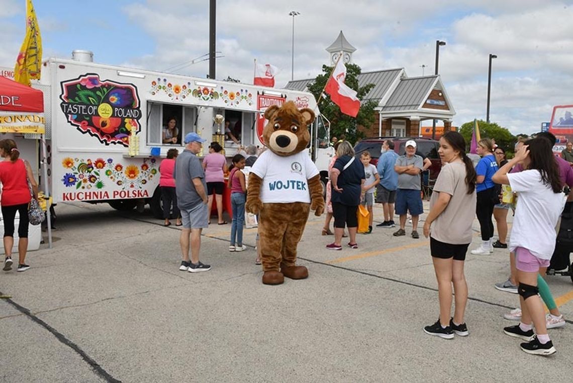
[[16,212],[19,214],[18,225],[18,271],[30,268],[25,263],[28,249],[28,204],[32,200],[28,181],[32,185],[34,198],[38,199],[38,184],[32,174],[28,161],[19,159],[20,152],[14,140],[0,140],[0,182],[2,183],[2,217],[4,222],[4,271],[12,269],[12,248],[14,246],[14,220]]

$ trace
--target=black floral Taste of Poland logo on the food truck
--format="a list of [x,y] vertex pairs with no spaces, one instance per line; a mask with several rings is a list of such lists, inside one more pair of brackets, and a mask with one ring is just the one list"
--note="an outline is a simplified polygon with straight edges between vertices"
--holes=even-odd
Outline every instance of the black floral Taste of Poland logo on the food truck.
[[138,89],[134,84],[101,81],[96,73],[62,81],[62,112],[80,132],[95,136],[105,145],[129,145],[134,130],[141,131]]

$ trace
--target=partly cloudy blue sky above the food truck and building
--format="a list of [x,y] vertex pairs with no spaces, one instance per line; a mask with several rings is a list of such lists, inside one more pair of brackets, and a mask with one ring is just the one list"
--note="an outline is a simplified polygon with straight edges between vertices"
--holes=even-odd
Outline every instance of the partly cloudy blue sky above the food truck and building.
[[[206,77],[209,0],[33,0],[44,58],[87,49],[94,61]],[[13,67],[25,34],[25,0],[0,0],[0,67]],[[217,79],[253,81],[253,60],[280,69],[276,86],[309,79],[329,64],[325,48],[340,30],[363,72],[405,68],[439,74],[456,110],[453,125],[486,118],[513,134],[548,122],[554,105],[573,104],[573,2],[552,0],[217,1]],[[199,58],[199,60],[201,60]],[[197,60],[197,61],[199,61]],[[422,67],[422,65],[424,67]],[[423,123],[429,124],[429,121]]]

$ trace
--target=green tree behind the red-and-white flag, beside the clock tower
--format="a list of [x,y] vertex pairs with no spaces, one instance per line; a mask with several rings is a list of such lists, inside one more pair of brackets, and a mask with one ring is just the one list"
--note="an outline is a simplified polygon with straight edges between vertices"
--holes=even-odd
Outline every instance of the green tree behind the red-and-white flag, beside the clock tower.
[[[333,68],[334,67],[323,65],[323,73],[316,76],[314,83],[309,85],[309,91],[317,100],[319,100]],[[360,75],[361,72],[362,70],[358,65],[346,64],[346,78],[344,79],[344,83],[354,89],[357,92],[356,97],[362,101],[368,92],[374,88],[374,84],[366,84],[363,87],[359,87],[357,76]],[[338,105],[333,103],[330,97],[324,93],[323,96],[320,97],[319,110],[320,113],[331,122],[331,138],[333,136],[340,137],[344,135],[346,140],[354,143],[364,137],[364,133],[358,130],[358,126],[370,127],[375,122],[374,108],[376,105],[374,101],[363,101],[360,104],[358,115],[354,118],[343,114]]]

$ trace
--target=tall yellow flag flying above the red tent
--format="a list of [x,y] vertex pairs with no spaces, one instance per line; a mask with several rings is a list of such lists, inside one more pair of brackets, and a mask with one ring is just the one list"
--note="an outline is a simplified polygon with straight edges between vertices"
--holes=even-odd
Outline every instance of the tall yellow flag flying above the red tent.
[[42,69],[42,38],[32,0],[26,3],[26,36],[16,59],[14,80],[30,86],[30,79],[40,80]]

